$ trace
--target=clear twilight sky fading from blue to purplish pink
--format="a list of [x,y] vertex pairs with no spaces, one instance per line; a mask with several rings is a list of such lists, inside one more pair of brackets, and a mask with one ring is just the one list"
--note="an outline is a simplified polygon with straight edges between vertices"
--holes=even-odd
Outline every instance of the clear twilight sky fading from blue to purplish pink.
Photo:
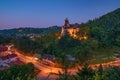
[[0,0],[0,29],[86,22],[120,8],[120,0]]

